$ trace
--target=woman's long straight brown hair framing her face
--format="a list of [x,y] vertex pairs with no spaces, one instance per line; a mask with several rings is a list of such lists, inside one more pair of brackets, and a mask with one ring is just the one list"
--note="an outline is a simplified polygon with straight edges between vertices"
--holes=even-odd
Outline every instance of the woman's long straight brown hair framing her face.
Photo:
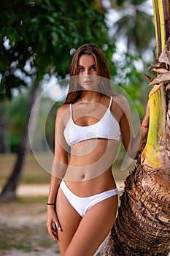
[[72,58],[72,63],[70,65],[69,91],[64,104],[74,103],[77,101],[77,99],[81,97],[82,87],[78,83],[78,75],[80,74],[78,64],[80,57],[85,54],[89,54],[94,57],[96,61],[98,76],[100,76],[101,78],[107,78],[101,79],[100,81],[99,91],[101,92],[101,94],[106,94],[108,96],[112,94],[112,89],[110,85],[111,78],[109,72],[109,65],[103,51],[97,45],[85,44],[77,49]]

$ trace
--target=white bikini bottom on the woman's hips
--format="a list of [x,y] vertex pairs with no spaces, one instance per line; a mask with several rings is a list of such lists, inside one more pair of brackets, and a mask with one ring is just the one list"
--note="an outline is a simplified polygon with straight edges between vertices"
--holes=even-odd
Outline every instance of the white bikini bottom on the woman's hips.
[[65,182],[62,180],[60,187],[63,194],[66,196],[72,207],[80,214],[80,216],[85,216],[85,213],[96,203],[101,202],[104,199],[117,195],[117,188],[101,192],[97,195],[92,195],[90,197],[78,197],[66,186]]

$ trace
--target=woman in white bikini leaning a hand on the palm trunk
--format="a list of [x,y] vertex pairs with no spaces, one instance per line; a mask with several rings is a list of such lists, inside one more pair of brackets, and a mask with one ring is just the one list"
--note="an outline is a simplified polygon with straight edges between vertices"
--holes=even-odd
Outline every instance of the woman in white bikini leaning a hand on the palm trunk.
[[[47,201],[47,230],[63,256],[91,256],[107,237],[117,214],[112,176],[120,135],[134,157],[147,137],[147,110],[134,135],[126,99],[112,94],[104,53],[82,45],[70,67],[66,102],[55,121],[55,157]],[[68,158],[68,147],[70,156]]]

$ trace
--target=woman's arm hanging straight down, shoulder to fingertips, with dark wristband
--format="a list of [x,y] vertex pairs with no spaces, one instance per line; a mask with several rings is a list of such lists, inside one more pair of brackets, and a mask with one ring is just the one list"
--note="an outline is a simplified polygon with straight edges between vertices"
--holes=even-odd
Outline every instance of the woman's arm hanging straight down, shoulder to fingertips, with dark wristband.
[[[47,203],[55,203],[58,188],[61,179],[66,173],[68,165],[68,152],[66,141],[63,138],[63,109],[58,109],[55,120],[55,156],[53,159],[52,172],[50,178],[50,189]],[[53,227],[53,223],[55,228]],[[47,205],[47,230],[54,240],[58,240],[57,230],[61,230],[61,225],[58,222],[58,217],[55,211],[55,205]]]

